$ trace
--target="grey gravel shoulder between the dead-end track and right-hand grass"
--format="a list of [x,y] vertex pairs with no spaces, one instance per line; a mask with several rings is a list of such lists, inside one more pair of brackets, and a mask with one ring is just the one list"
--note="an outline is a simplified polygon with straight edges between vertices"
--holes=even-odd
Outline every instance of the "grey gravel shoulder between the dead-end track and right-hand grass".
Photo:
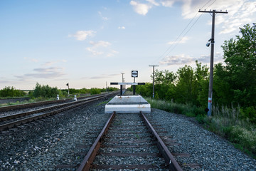
[[[256,170],[256,160],[235,149],[227,140],[201,128],[184,115],[151,109],[146,117],[153,118],[181,145],[169,146],[171,152],[190,154],[190,157],[176,157],[184,170]],[[197,163],[200,168],[186,167]]]

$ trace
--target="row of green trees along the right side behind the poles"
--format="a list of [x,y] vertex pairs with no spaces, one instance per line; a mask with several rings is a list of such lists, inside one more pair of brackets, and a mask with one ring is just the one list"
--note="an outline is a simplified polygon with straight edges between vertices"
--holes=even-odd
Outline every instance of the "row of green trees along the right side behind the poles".
[[[223,63],[213,71],[213,105],[240,107],[240,117],[256,123],[256,25],[240,28],[241,36],[223,43]],[[152,76],[151,76],[152,78]],[[176,73],[155,72],[155,98],[207,108],[209,68],[183,66]],[[152,96],[152,83],[137,86],[137,93]]]

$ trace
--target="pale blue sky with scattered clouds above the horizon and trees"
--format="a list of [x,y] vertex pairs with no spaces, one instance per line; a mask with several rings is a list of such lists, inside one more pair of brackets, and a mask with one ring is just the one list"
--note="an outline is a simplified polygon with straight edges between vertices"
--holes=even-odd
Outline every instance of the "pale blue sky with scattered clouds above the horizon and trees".
[[110,82],[151,82],[195,61],[209,65],[212,16],[214,62],[224,41],[256,21],[250,0],[1,0],[0,89],[105,88]]

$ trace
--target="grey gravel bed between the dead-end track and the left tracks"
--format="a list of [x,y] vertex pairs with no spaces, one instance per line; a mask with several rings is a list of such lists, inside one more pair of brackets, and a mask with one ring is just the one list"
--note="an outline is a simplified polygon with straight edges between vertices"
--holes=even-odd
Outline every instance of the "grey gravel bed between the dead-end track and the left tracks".
[[76,170],[110,118],[101,102],[0,133],[0,170]]

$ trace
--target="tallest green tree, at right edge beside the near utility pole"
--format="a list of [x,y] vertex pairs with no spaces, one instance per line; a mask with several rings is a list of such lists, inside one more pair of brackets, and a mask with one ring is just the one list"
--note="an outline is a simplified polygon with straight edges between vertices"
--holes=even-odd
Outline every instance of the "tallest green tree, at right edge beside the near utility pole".
[[[234,105],[256,105],[256,24],[240,28],[241,36],[225,41],[223,76]],[[219,76],[219,75],[218,75]],[[221,78],[221,76],[219,76]]]

